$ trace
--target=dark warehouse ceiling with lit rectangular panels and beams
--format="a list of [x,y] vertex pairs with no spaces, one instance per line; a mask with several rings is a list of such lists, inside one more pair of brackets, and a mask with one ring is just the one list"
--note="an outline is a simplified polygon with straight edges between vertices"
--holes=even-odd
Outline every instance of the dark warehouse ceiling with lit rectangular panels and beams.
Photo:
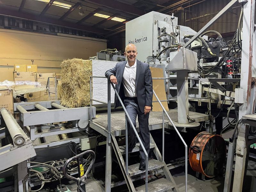
[[[0,15],[109,37],[151,11],[171,14],[206,0],[0,0]],[[97,14],[96,14],[97,13]]]

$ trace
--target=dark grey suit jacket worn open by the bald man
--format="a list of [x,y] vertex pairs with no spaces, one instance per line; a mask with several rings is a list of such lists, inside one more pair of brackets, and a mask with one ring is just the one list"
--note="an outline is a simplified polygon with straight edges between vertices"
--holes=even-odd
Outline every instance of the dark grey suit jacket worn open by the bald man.
[[[112,69],[106,71],[105,76],[109,77],[111,75],[116,76],[117,83],[116,91],[124,102],[124,87],[123,87],[123,74],[124,67],[127,61],[118,62],[116,66]],[[149,69],[148,63],[143,63],[137,60],[137,69],[136,69],[136,79],[135,79],[135,89],[138,99],[138,104],[140,111],[144,113],[145,106],[152,106],[153,99],[153,86],[152,86],[152,77],[151,71]],[[115,95],[115,108],[121,106],[117,96]]]

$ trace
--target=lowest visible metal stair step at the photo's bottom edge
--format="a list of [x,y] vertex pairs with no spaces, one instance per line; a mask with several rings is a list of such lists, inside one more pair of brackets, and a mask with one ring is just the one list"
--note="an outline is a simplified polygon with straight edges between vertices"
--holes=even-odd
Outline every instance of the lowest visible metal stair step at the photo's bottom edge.
[[[172,192],[174,185],[172,182],[161,178],[148,183],[148,192]],[[136,188],[136,192],[145,192],[145,185]]]

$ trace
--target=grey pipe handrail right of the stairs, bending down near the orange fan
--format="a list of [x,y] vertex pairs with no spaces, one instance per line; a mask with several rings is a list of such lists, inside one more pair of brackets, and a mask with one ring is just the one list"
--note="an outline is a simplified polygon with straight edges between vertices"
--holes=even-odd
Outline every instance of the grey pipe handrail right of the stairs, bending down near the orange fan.
[[168,115],[168,113],[166,112],[166,110],[165,110],[164,106],[162,105],[162,103],[160,102],[159,98],[157,97],[157,95],[156,95],[154,89],[153,89],[153,93],[154,93],[154,95],[155,95],[155,97],[156,97],[156,100],[159,102],[161,108],[163,109],[165,115],[168,117],[170,123],[172,124],[173,128],[175,129],[175,131],[177,132],[178,136],[180,137],[180,140],[182,141],[182,143],[183,143],[184,146],[185,146],[185,150],[186,150],[186,151],[185,151],[185,162],[187,162],[187,163],[185,163],[185,176],[186,176],[186,178],[185,178],[185,180],[186,180],[186,183],[185,183],[185,192],[187,192],[187,191],[188,191],[188,146],[187,146],[186,142],[183,140],[182,136],[180,135],[180,132],[178,131],[177,127],[176,127],[175,124],[172,122],[171,117],[170,117],[170,116]]

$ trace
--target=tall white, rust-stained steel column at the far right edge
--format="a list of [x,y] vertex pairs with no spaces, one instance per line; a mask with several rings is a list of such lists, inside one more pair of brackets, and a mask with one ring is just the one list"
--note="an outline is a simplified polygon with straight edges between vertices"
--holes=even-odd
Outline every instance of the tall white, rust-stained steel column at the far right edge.
[[[239,107],[239,119],[252,113],[251,83],[252,83],[252,49],[254,32],[254,6],[255,0],[249,0],[244,4],[243,14],[243,48],[241,60],[240,87],[244,89],[244,104]],[[255,37],[254,37],[255,38]],[[253,96],[252,96],[253,97]],[[242,191],[244,174],[246,172],[247,135],[249,127],[239,124],[239,134],[236,141],[236,166],[234,173],[233,191]],[[249,147],[249,146],[248,146]]]

